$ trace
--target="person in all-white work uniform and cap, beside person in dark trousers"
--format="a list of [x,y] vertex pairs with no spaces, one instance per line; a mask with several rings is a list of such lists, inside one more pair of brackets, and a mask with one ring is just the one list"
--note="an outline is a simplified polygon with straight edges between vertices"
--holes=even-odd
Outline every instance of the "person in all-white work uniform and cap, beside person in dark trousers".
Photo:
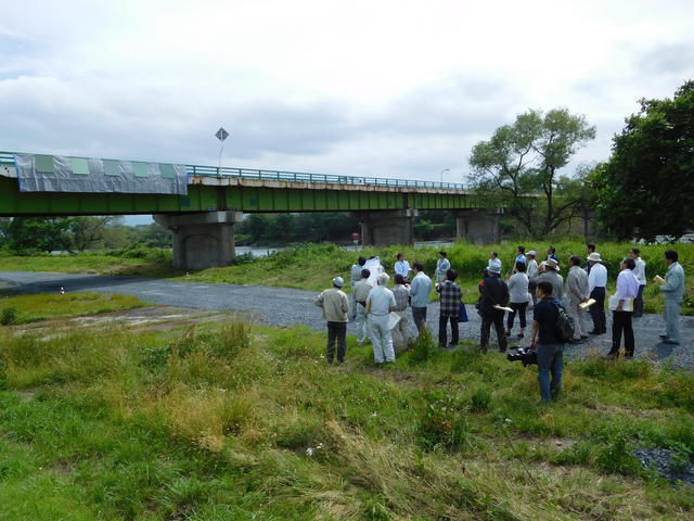
[[373,359],[376,365],[395,361],[393,334],[390,333],[390,312],[395,312],[395,295],[386,288],[388,274],[378,275],[377,284],[367,297],[369,332],[373,344]]

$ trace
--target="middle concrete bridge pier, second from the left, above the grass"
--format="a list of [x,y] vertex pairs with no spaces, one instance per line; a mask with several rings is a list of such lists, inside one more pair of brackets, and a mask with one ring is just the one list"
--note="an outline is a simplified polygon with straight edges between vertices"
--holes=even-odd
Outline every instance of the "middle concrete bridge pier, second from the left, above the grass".
[[354,212],[361,224],[361,243],[363,245],[413,244],[412,219],[417,212],[407,209],[378,209]]

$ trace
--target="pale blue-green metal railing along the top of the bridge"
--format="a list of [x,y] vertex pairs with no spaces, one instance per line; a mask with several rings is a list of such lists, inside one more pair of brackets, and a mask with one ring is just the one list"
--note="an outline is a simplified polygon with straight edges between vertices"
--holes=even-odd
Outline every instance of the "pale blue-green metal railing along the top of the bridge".
[[[14,152],[0,152],[0,165],[14,165]],[[320,182],[329,185],[361,185],[394,188],[430,188],[441,190],[464,190],[457,182],[421,181],[414,179],[388,179],[383,177],[355,177],[335,174],[309,174],[306,171],[267,170],[254,168],[231,168],[227,166],[185,165],[189,176],[261,179],[293,182]]]

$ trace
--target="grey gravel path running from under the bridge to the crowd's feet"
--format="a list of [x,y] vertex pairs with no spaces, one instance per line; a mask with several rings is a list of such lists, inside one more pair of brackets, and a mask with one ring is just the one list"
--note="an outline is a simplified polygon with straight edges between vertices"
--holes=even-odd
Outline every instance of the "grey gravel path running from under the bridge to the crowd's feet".
[[[312,291],[36,271],[0,271],[0,288],[2,285],[23,293],[57,293],[61,288],[67,292],[123,293],[153,304],[248,313],[254,319],[271,326],[304,323],[314,330],[325,329],[320,309],[312,303],[316,295]],[[478,341],[479,317],[473,306],[467,306],[467,315],[471,321],[461,323],[461,338]],[[607,320],[609,330],[609,314]],[[429,307],[427,323],[433,331],[438,330],[437,304]],[[354,325],[349,325],[348,331],[354,333]],[[663,320],[658,315],[645,315],[634,320],[637,357],[669,360],[679,367],[694,369],[694,317],[682,318],[683,342],[680,345],[663,344],[658,338],[661,331]],[[492,342],[494,339],[492,333]],[[511,344],[517,343],[517,340],[511,338]],[[587,343],[568,346],[566,356],[583,357],[590,352],[605,354],[609,347],[611,334],[603,334]]]

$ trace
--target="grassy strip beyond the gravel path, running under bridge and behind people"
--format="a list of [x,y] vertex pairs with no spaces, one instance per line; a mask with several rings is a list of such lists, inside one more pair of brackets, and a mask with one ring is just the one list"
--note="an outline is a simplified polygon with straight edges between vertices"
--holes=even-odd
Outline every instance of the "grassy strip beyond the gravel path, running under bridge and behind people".
[[[526,250],[535,249],[538,258],[544,255],[545,245],[531,241],[522,241]],[[504,271],[512,268],[515,258],[516,243],[492,244],[478,246],[459,242],[448,249],[449,258],[459,272],[459,282],[463,288],[463,297],[467,304],[477,300],[477,282],[483,269],[487,266],[489,253],[497,251],[503,260]],[[586,256],[582,242],[566,241],[554,243],[566,276],[566,264],[573,254]],[[608,269],[609,290],[614,290],[614,282],[618,274],[619,262],[626,256],[632,244],[606,243],[600,244],[597,251],[602,254]],[[663,253],[671,246],[655,245],[641,246],[642,256],[647,263],[647,277],[665,275],[666,266]],[[678,244],[674,246],[680,253],[680,262],[687,274],[686,300],[682,305],[683,315],[694,315],[694,244]],[[202,271],[175,271],[170,266],[170,255],[160,251],[153,251],[143,258],[124,258],[117,256],[81,254],[39,257],[0,256],[0,270],[16,269],[29,271],[65,271],[65,272],[99,272],[103,275],[133,275],[157,278],[176,278],[179,280],[197,282],[228,282],[234,284],[264,284],[284,288],[297,288],[320,291],[330,285],[333,277],[339,275],[349,280],[350,266],[361,254],[367,257],[378,255],[389,272],[393,272],[395,256],[398,252],[406,254],[410,264],[422,262],[429,275],[436,267],[437,250],[433,247],[367,247],[359,253],[340,250],[333,244],[308,244],[278,252],[265,258],[252,259],[240,257],[240,263],[224,268],[210,268]],[[18,268],[21,266],[21,268]],[[349,284],[346,287],[349,290]],[[433,293],[433,298],[436,295]],[[648,284],[644,292],[645,309],[647,313],[660,313],[663,298],[658,288]]]

